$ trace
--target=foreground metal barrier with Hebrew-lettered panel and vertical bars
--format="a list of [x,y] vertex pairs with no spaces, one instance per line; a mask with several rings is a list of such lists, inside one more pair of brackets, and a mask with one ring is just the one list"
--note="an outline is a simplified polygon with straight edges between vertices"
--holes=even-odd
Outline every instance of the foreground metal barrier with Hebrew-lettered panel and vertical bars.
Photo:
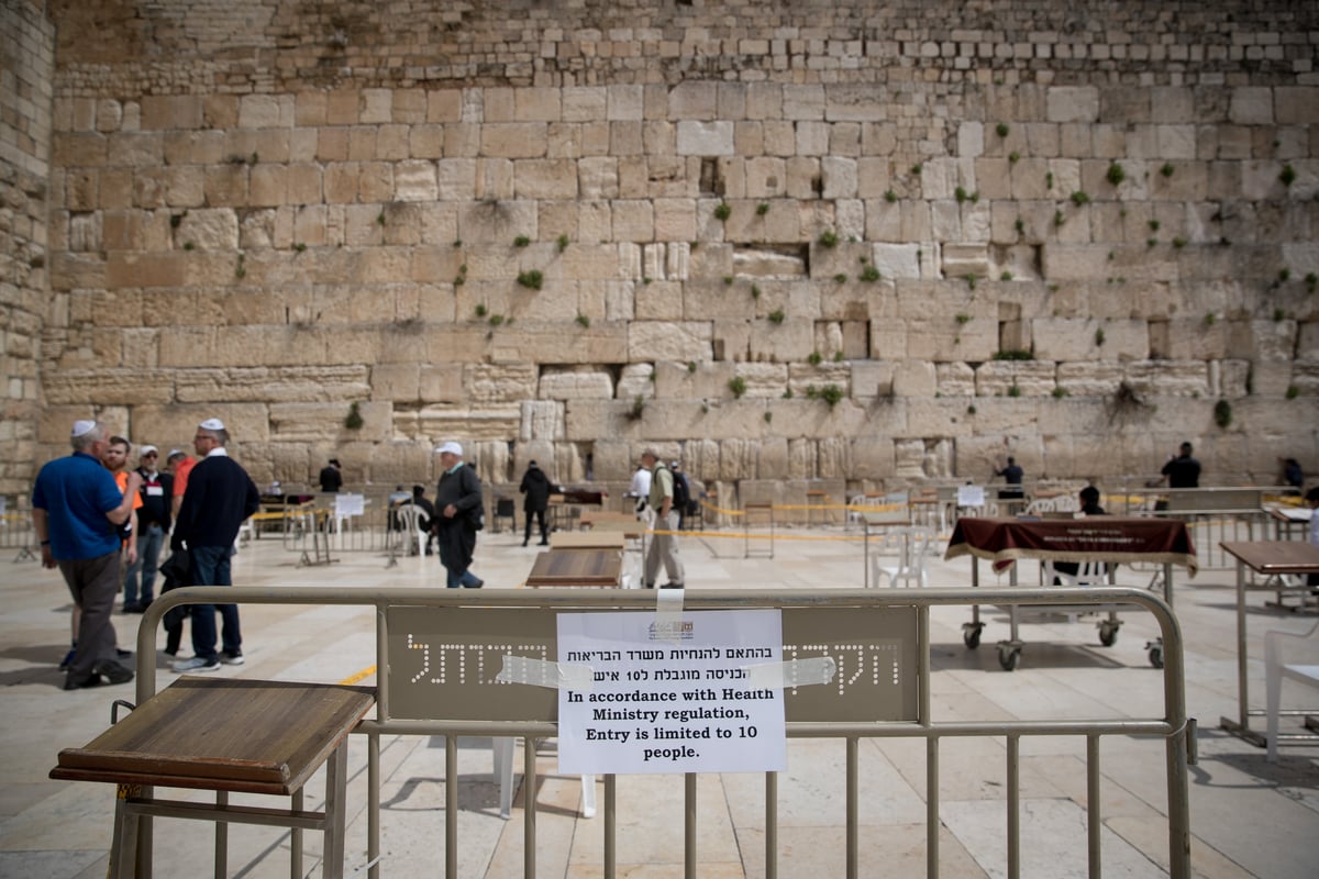
[[[455,594],[455,592],[458,594]],[[1099,745],[1103,737],[1149,735],[1165,739],[1169,821],[1169,874],[1174,879],[1187,879],[1190,870],[1190,814],[1187,789],[1187,763],[1194,751],[1194,721],[1188,722],[1184,706],[1184,676],[1182,637],[1171,608],[1161,598],[1128,588],[1091,588],[1070,590],[1068,604],[1130,605],[1151,613],[1162,631],[1165,647],[1163,716],[1136,720],[1058,720],[1058,721],[993,721],[943,722],[933,717],[930,688],[930,609],[935,606],[998,604],[998,605],[1051,605],[1060,600],[1059,589],[790,589],[769,594],[749,590],[702,590],[686,596],[686,610],[727,610],[777,608],[783,611],[783,656],[831,656],[840,669],[847,669],[852,681],[859,681],[861,695],[871,688],[896,688],[889,698],[873,700],[878,708],[864,708],[863,713],[840,712],[831,716],[823,710],[803,706],[787,698],[785,691],[786,734],[789,738],[842,738],[847,743],[847,876],[860,875],[860,821],[859,778],[860,741],[863,738],[923,738],[926,741],[926,874],[939,875],[939,746],[946,738],[1001,737],[1006,741],[1006,853],[1008,876],[1017,879],[1021,871],[1021,739],[1030,737],[1080,735],[1087,742],[1087,853],[1089,875],[1103,874],[1100,845],[1101,816]],[[306,588],[215,588],[191,586],[169,592],[148,609],[137,634],[137,702],[145,702],[156,692],[156,629],[170,608],[182,604],[280,604],[280,605],[363,605],[376,609],[377,705],[376,720],[363,721],[359,733],[368,737],[368,842],[369,875],[380,876],[380,737],[385,734],[445,735],[445,857],[446,876],[458,876],[458,735],[522,737],[525,739],[524,785],[537,789],[534,741],[558,734],[555,714],[546,706],[543,691],[534,697],[526,688],[497,684],[495,680],[505,654],[539,655],[555,658],[555,615],[561,611],[580,610],[654,610],[652,593],[634,592],[530,592],[514,589],[485,589],[480,602],[474,604],[462,590],[447,589],[306,589]],[[807,625],[811,614],[828,611],[830,626]],[[840,631],[830,629],[839,619],[851,621]],[[518,625],[508,626],[513,619]],[[480,625],[475,625],[479,622]],[[496,622],[499,625],[491,626]],[[430,650],[421,651],[413,643],[414,631],[442,638],[435,650],[454,659],[456,667],[468,669],[458,681],[422,673],[413,675],[413,666],[429,658]],[[500,633],[492,635],[491,633]],[[860,673],[863,650],[885,650],[893,655],[892,675],[888,667],[876,666],[877,673]],[[419,656],[421,654],[421,656]],[[499,659],[500,662],[495,662]],[[437,662],[443,659],[437,656]],[[466,664],[464,664],[466,662]],[[423,671],[423,669],[422,669]],[[409,675],[412,677],[409,679]],[[451,676],[455,677],[455,676]],[[471,679],[471,680],[468,680]],[[418,685],[421,680],[421,685]],[[842,696],[843,675],[839,684],[823,689]],[[412,691],[409,691],[412,685]],[[421,687],[423,696],[419,696]],[[484,689],[484,701],[476,698]],[[537,688],[532,688],[537,689]],[[503,691],[497,710],[491,709],[491,691]],[[814,700],[815,697],[809,697]],[[832,698],[832,696],[830,696]],[[551,701],[550,705],[554,702]],[[418,708],[421,705],[421,708]],[[855,704],[853,704],[855,705]],[[435,713],[447,713],[445,718]],[[475,712],[475,713],[474,713]],[[865,713],[868,712],[868,713]],[[844,716],[839,716],[844,714]],[[801,720],[805,718],[805,720]],[[685,875],[696,876],[696,775],[686,774],[686,826]],[[604,778],[604,875],[616,875],[616,776]],[[525,797],[524,812],[524,876],[536,876],[536,796]],[[777,853],[777,775],[765,774],[765,874],[774,879],[778,871]],[[141,845],[144,863],[150,863],[149,820],[144,818]],[[301,837],[293,839],[295,854],[301,853]]]

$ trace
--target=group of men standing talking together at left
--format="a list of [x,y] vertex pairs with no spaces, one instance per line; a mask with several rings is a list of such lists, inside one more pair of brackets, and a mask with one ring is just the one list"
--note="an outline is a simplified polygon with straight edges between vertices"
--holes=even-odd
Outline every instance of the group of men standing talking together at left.
[[[129,444],[106,424],[83,419],[70,431],[73,453],[41,468],[32,493],[32,519],[41,561],[59,568],[74,600],[74,650],[65,689],[133,679],[119,660],[111,617],[124,573],[124,610],[141,613],[153,600],[157,560],[173,527],[170,547],[186,552],[190,585],[232,585],[230,557],[243,521],[260,498],[247,472],[228,457],[228,432],[216,418],[193,438],[200,459],[170,453],[173,473],[157,469],[160,451],[141,449],[141,467],[125,472]],[[136,527],[135,527],[136,523]],[[124,567],[127,565],[127,572]],[[138,579],[140,577],[140,579]],[[214,671],[215,605],[191,605],[191,659],[175,671]],[[223,662],[243,662],[236,605],[219,605],[224,619]]]

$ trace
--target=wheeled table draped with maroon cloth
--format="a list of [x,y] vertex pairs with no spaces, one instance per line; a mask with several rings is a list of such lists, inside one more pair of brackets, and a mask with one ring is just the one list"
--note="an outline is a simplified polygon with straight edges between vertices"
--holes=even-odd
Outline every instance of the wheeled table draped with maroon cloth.
[[[980,585],[979,560],[993,563],[996,571],[1012,569],[1012,585],[1017,584],[1016,561],[1038,559],[1049,561],[1104,561],[1108,564],[1154,563],[1163,565],[1163,597],[1173,604],[1173,565],[1186,568],[1195,576],[1195,544],[1191,532],[1181,519],[1092,515],[1078,519],[958,519],[948,540],[944,559],[969,555],[971,585]],[[1087,606],[1093,610],[1093,606]],[[1000,642],[1000,662],[1004,668],[1014,668],[1021,650],[1017,638],[1017,611],[1010,613],[1012,638]],[[1117,637],[1115,613],[1100,623],[1100,639],[1112,644]],[[963,639],[968,647],[980,644],[980,609],[972,608],[972,622],[963,626]],[[1162,666],[1162,644],[1151,642],[1150,663]]]

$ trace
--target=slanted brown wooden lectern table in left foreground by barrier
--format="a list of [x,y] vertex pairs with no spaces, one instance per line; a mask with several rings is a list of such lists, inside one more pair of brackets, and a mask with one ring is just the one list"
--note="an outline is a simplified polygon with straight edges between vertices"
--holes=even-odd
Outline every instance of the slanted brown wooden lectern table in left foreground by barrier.
[[[65,749],[53,779],[146,785],[115,810],[111,876],[137,871],[142,817],[215,822],[215,874],[227,872],[227,824],[324,833],[323,875],[343,875],[347,738],[371,710],[371,688],[295,681],[181,677],[86,747]],[[326,764],[324,812],[302,809],[302,785]],[[149,785],[215,791],[215,805],[157,800]],[[293,796],[288,809],[228,804],[228,792]],[[301,867],[295,833],[293,874]],[[146,843],[144,867],[149,871]]]

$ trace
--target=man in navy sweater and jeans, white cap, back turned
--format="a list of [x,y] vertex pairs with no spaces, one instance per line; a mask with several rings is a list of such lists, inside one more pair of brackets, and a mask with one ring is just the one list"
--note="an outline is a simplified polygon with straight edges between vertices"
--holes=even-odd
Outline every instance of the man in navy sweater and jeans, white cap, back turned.
[[[237,461],[224,449],[224,422],[208,418],[197,427],[193,447],[200,459],[187,477],[170,546],[187,547],[194,586],[232,586],[230,559],[244,519],[261,507],[261,496]],[[215,611],[224,621],[223,652],[215,650]],[[171,667],[177,672],[212,672],[224,662],[243,664],[243,635],[237,605],[193,605],[193,658]]]

